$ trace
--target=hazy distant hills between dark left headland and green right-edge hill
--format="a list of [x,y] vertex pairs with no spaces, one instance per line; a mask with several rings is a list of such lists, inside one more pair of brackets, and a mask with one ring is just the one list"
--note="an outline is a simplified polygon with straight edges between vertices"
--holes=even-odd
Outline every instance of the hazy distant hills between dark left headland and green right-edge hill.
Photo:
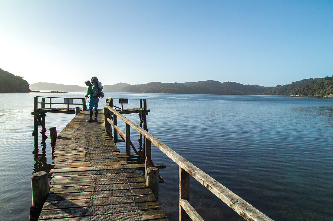
[[[320,79],[321,78],[303,79],[301,81],[296,81],[291,84],[277,85],[275,87],[244,85],[236,82],[221,83],[219,81],[213,81],[213,80],[186,82],[186,83],[150,82],[148,84],[139,84],[139,85],[117,83],[114,85],[103,85],[104,86],[103,91],[132,92],[132,93],[168,93],[168,94],[223,94],[223,95],[239,94],[239,95],[289,96],[294,89],[308,85],[311,82],[314,83],[319,82]],[[41,82],[30,85],[30,88],[33,90],[52,90],[52,91],[87,90],[86,87],[81,87],[77,85],[63,85],[63,84],[54,84],[54,83],[41,83]]]

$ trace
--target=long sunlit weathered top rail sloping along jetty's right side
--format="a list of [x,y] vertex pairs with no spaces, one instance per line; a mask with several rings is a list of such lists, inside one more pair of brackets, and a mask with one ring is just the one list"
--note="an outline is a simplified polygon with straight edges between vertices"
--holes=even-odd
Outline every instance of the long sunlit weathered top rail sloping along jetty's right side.
[[125,121],[125,123],[129,124],[139,133],[144,135],[146,139],[150,140],[157,148],[159,148],[164,154],[166,154],[166,156],[173,160],[179,167],[181,167],[184,171],[191,175],[200,184],[205,186],[214,195],[220,198],[224,203],[226,203],[230,208],[232,208],[245,220],[272,220],[265,214],[260,212],[258,209],[253,207],[251,204],[233,193],[231,190],[210,177],[208,174],[200,170],[198,167],[194,166],[191,162],[180,156],[162,141],[157,139],[154,135],[125,117],[123,114],[119,113],[109,105],[106,105],[105,108],[116,114],[119,118]]

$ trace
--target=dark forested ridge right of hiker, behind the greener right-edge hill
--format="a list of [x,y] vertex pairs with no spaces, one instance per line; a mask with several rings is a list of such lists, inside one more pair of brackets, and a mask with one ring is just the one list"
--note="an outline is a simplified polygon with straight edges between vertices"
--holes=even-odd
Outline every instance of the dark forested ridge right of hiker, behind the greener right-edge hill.
[[290,95],[298,86],[304,86],[320,78],[310,78],[296,81],[291,84],[264,87],[258,85],[243,85],[236,82],[198,81],[186,83],[161,83],[128,85],[121,92],[135,93],[170,93],[170,94],[242,94],[242,95]]

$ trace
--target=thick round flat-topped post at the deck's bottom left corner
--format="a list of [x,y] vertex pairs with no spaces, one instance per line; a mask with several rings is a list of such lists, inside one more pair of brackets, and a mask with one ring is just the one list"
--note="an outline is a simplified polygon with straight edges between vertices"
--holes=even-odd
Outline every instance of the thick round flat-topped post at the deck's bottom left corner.
[[49,176],[45,171],[31,176],[32,206],[42,208],[49,195]]

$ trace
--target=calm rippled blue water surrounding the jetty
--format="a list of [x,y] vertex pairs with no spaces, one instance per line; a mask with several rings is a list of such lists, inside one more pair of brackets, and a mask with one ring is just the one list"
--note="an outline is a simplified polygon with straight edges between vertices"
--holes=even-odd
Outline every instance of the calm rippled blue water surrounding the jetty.
[[[28,220],[31,174],[52,167],[49,138],[41,143],[39,134],[40,144],[34,147],[31,136],[33,97],[83,94],[1,94],[1,220]],[[333,99],[134,93],[106,97],[146,98],[152,134],[270,218],[333,219]],[[104,104],[100,100],[100,107]],[[55,126],[59,133],[73,117],[48,113],[46,127]],[[139,122],[137,114],[128,117]],[[133,130],[137,146],[136,136]],[[123,143],[117,145],[124,150]],[[160,184],[159,202],[169,220],[177,220],[178,167],[156,147],[152,159],[166,164],[160,171],[165,183]],[[205,220],[242,220],[194,179],[190,202]]]

